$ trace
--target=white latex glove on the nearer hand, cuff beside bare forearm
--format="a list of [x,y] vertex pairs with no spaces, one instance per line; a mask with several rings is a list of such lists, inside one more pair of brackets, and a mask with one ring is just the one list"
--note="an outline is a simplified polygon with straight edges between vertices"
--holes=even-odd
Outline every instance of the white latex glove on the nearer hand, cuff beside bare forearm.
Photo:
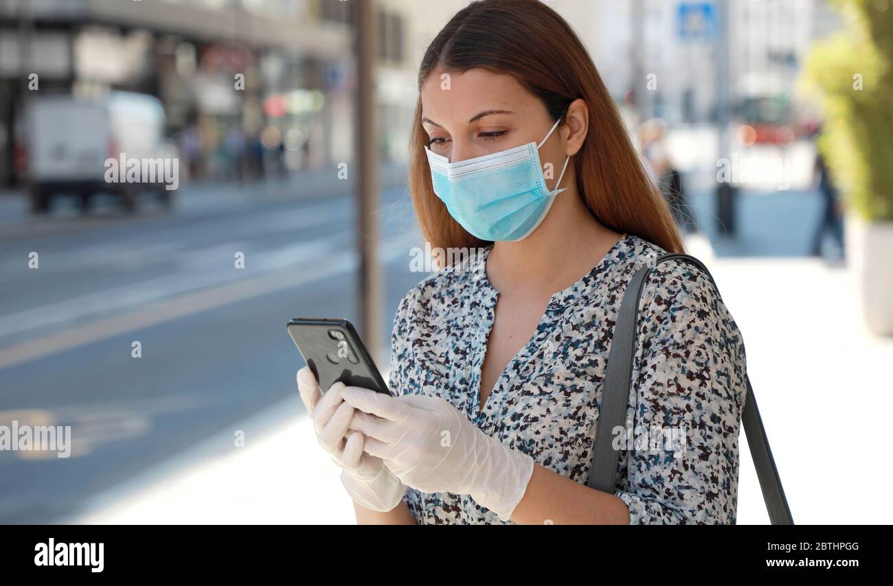
[[350,429],[366,436],[363,450],[403,483],[467,494],[503,521],[511,518],[533,474],[529,455],[507,448],[438,397],[390,397],[355,386],[341,397],[359,409]]

